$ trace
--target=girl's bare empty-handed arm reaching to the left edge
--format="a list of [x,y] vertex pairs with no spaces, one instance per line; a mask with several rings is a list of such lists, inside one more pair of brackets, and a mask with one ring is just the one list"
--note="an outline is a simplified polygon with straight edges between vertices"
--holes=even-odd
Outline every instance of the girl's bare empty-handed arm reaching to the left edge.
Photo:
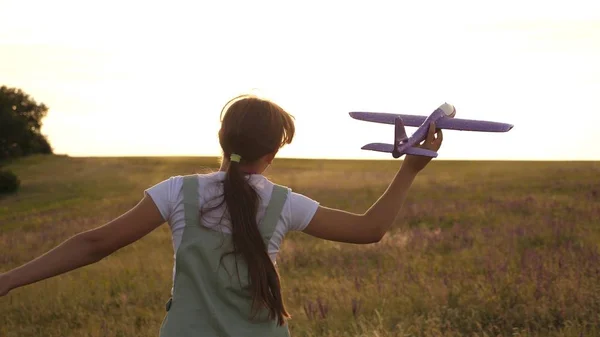
[[135,207],[106,225],[79,233],[37,259],[0,274],[0,296],[12,289],[98,262],[163,223],[156,204],[146,195]]

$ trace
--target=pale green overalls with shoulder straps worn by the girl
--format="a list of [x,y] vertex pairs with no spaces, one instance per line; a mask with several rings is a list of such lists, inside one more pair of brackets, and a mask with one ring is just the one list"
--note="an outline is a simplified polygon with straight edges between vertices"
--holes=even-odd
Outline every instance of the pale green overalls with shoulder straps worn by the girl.
[[[259,230],[265,245],[287,198],[287,188],[274,185]],[[183,179],[185,228],[177,249],[173,297],[167,302],[160,337],[289,336],[287,325],[277,326],[266,309],[251,317],[248,269],[233,254],[231,234],[203,226],[198,205],[198,177]],[[239,277],[238,277],[239,275]]]

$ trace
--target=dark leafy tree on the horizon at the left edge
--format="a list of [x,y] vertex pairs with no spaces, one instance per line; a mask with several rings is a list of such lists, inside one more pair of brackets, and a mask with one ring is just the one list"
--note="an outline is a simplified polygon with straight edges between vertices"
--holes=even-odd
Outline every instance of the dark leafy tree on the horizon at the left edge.
[[41,133],[48,107],[17,88],[0,87],[0,161],[34,153],[52,153]]

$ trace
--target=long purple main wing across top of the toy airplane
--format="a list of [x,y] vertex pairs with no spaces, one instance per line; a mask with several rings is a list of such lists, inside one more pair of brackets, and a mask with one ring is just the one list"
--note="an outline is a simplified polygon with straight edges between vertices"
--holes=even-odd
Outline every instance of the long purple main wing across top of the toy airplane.
[[[350,113],[350,116],[354,119],[359,119],[367,122],[383,123],[383,124],[395,124],[396,116],[402,118],[402,122],[406,126],[421,126],[427,116],[416,116],[416,115],[402,115],[402,114],[390,114],[384,112],[361,112],[354,111]],[[479,121],[473,119],[460,119],[442,117],[436,124],[436,127],[440,129],[449,130],[463,130],[463,131],[483,131],[483,132],[507,132],[513,128],[512,124]]]

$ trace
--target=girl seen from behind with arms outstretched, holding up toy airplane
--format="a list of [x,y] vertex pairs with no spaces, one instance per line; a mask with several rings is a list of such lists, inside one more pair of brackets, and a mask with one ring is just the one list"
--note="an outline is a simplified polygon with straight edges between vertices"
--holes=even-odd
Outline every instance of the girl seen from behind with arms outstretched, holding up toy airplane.
[[[431,124],[421,147],[440,148],[442,132],[435,130]],[[176,255],[160,336],[289,336],[275,266],[285,234],[378,242],[431,160],[407,156],[379,200],[364,214],[353,214],[320,206],[262,175],[293,137],[293,119],[278,105],[248,95],[232,99],[221,112],[218,172],[171,177],[147,189],[117,219],[0,274],[0,296],[98,262],[168,222]]]

